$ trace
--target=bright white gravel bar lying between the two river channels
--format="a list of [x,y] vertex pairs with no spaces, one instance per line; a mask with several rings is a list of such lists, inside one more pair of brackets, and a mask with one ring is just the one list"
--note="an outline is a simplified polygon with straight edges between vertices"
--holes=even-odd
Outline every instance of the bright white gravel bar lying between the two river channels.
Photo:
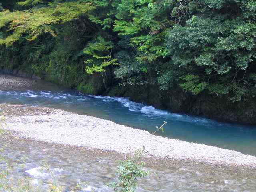
[[26,138],[56,144],[84,146],[88,149],[121,153],[144,146],[147,155],[156,158],[256,168],[255,156],[214,146],[155,136],[144,130],[92,116],[72,114],[62,110],[49,110],[50,113],[41,115],[6,116],[7,129],[18,131],[21,136]]

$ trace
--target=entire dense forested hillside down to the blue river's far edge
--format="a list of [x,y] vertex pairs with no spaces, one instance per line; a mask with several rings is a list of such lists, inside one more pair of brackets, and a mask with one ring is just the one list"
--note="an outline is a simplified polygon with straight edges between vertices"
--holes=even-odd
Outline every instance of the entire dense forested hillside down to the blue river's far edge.
[[256,124],[255,0],[1,0],[0,68]]

